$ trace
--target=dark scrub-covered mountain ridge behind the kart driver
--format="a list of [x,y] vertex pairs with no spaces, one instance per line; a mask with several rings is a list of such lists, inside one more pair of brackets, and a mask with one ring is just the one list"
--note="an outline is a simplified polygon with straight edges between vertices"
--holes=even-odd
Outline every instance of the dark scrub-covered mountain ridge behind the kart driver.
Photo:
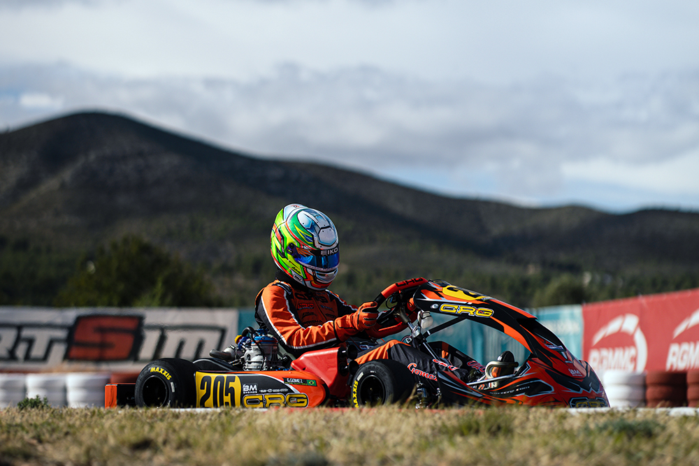
[[607,282],[657,281],[698,273],[697,213],[610,214],[437,196],[318,163],[259,159],[105,113],[0,134],[5,252],[31,245],[24,249],[75,256],[136,233],[202,264],[222,295],[254,298],[271,279],[272,221],[291,202],[335,221],[343,261],[337,284],[347,292],[375,293],[387,284],[380,280],[410,275],[469,286],[456,280],[590,272]]

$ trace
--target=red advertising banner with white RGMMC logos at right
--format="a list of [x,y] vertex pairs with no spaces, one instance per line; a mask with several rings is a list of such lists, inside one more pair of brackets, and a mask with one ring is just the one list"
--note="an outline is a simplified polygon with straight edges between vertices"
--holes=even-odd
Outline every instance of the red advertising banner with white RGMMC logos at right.
[[582,318],[598,373],[699,369],[699,289],[586,304]]

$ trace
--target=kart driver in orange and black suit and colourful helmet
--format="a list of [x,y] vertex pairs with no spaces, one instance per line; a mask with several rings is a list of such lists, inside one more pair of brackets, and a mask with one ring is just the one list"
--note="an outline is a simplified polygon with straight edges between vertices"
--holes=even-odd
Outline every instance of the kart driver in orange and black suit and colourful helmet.
[[[278,270],[257,295],[255,319],[289,354],[298,357],[312,349],[353,344],[359,351],[357,363],[393,359],[408,366],[417,380],[433,380],[439,370],[451,370],[466,382],[483,376],[482,365],[443,342],[431,343],[440,360],[398,340],[377,344],[408,325],[393,320],[379,326],[377,303],[357,308],[328,289],[338,273],[340,253],[337,230],[322,212],[287,205],[275,218],[270,242]],[[415,321],[415,309],[408,311]]]

